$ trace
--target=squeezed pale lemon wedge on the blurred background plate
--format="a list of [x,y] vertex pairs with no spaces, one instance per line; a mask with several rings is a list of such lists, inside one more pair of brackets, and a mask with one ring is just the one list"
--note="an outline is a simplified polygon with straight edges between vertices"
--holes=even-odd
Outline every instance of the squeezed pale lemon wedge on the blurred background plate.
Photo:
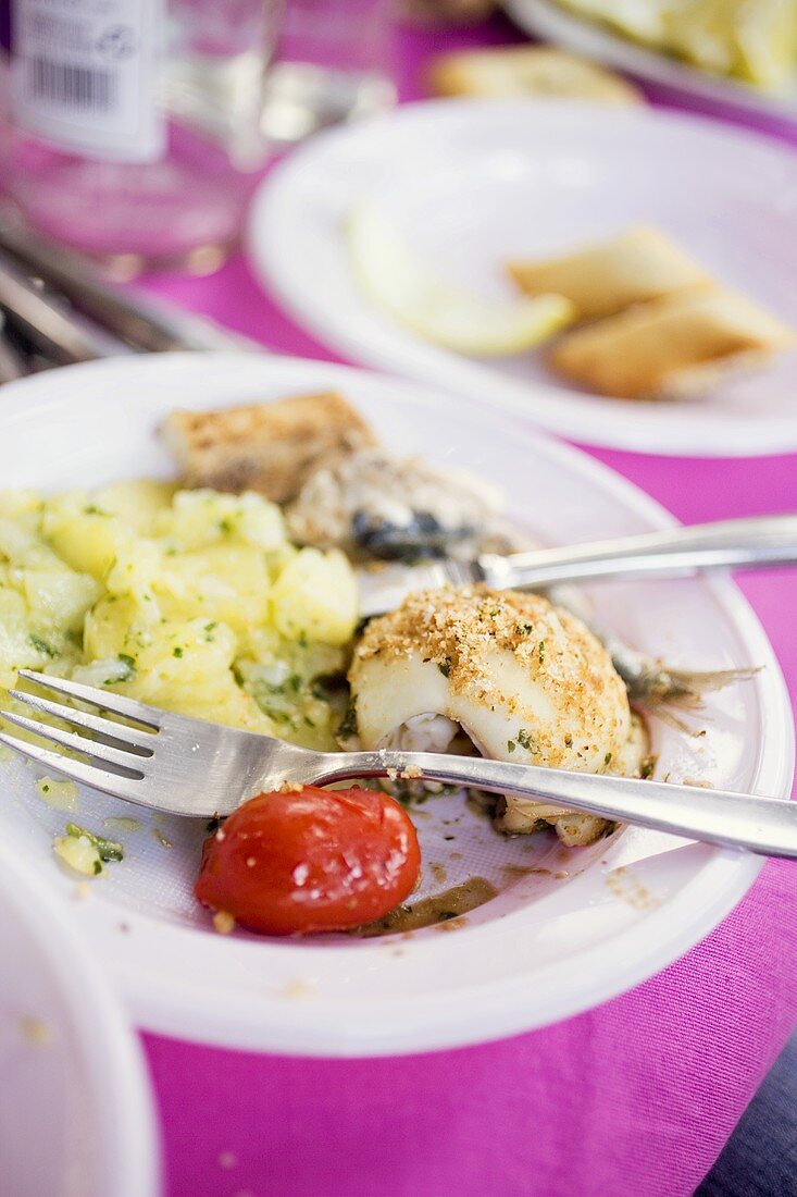
[[564,296],[491,302],[451,286],[413,256],[372,203],[354,208],[346,233],[363,290],[398,323],[446,350],[480,357],[523,353],[576,316]]

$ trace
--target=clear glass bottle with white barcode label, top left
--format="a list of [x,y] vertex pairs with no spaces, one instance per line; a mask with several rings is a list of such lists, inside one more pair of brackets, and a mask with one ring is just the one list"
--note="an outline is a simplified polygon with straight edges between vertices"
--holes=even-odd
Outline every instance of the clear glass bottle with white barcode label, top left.
[[6,190],[117,277],[214,269],[266,160],[282,0],[12,0]]

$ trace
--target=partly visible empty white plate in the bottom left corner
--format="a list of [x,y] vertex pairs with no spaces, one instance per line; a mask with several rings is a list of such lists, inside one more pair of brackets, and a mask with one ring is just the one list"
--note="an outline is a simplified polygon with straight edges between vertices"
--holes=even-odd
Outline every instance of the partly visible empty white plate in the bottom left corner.
[[156,1197],[158,1144],[138,1043],[96,960],[30,862],[0,844],[0,1189]]

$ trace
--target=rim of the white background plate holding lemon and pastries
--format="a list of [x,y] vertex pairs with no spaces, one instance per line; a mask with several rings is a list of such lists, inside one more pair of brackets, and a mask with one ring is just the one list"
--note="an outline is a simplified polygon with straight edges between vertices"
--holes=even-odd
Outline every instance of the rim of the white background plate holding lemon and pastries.
[[[724,144],[724,148],[734,151],[738,146],[769,156],[781,168],[797,174],[797,158],[778,138],[760,129],[740,128],[724,124],[708,116],[685,114],[664,108],[629,107],[612,109],[614,126],[638,122],[659,126],[664,129],[675,128],[687,135],[708,138]],[[342,356],[347,361],[378,372],[390,372],[410,378],[422,385],[456,390],[476,400],[485,390],[491,391],[491,402],[501,411],[519,415],[542,431],[577,442],[580,445],[592,445],[602,449],[639,452],[649,456],[679,456],[689,458],[750,457],[775,456],[797,451],[797,414],[774,415],[766,420],[759,419],[754,412],[737,414],[732,423],[716,414],[705,415],[696,412],[686,431],[680,431],[677,420],[662,420],[662,412],[669,408],[659,405],[647,405],[639,420],[626,420],[629,405],[623,400],[617,403],[616,412],[603,406],[612,400],[603,396],[591,396],[586,391],[577,391],[579,403],[597,399],[595,415],[584,431],[583,407],[572,409],[567,403],[567,393],[555,381],[535,383],[522,396],[516,379],[504,378],[494,372],[489,363],[469,359],[449,353],[437,346],[426,344],[421,338],[408,330],[391,326],[388,318],[379,318],[378,310],[364,300],[363,310],[369,316],[376,316],[376,324],[370,333],[377,335],[375,348],[372,340],[366,340],[346,328],[342,321],[330,322],[321,303],[308,294],[303,281],[297,281],[292,267],[294,243],[292,236],[286,236],[285,221],[291,221],[294,209],[296,180],[310,169],[315,170],[317,160],[334,162],[337,146],[357,144],[358,140],[379,139],[389,135],[393,124],[426,123],[430,120],[452,120],[468,114],[469,123],[474,121],[522,117],[528,124],[535,114],[542,114],[548,124],[552,119],[580,119],[588,123],[600,122],[606,117],[606,110],[600,105],[570,99],[534,99],[534,98],[456,98],[424,99],[401,104],[388,113],[364,117],[357,123],[320,133],[311,141],[296,148],[279,162],[258,184],[249,208],[244,235],[244,253],[255,280],[267,296],[275,298],[282,311],[304,332],[317,340],[328,352]],[[376,134],[375,134],[376,130]],[[288,229],[288,233],[293,230]],[[359,315],[358,309],[358,315]],[[384,321],[384,323],[383,323]],[[402,352],[402,346],[394,342],[402,336],[412,338],[419,353],[424,351],[440,354],[434,361],[416,363]],[[406,350],[406,346],[403,347]],[[550,403],[561,406],[561,415],[552,414],[550,409],[542,413],[528,406],[528,395],[536,390]],[[633,405],[632,405],[633,406]],[[695,411],[698,403],[692,405]],[[650,419],[646,419],[650,417]]]

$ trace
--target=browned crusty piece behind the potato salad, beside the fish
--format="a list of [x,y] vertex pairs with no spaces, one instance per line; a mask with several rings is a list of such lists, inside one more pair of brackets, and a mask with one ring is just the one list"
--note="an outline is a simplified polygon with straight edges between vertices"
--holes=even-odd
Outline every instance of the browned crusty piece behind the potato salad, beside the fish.
[[163,426],[188,487],[293,498],[321,462],[376,443],[335,391],[219,412],[172,412]]

